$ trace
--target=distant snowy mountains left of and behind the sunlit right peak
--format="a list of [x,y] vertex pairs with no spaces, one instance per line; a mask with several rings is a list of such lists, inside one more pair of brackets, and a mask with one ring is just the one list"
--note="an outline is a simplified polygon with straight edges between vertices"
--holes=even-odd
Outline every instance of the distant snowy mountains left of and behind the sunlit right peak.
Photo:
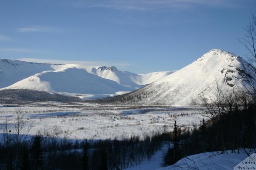
[[139,75],[119,71],[114,66],[90,68],[1,59],[0,88],[112,96],[134,91],[171,73],[173,71]]

